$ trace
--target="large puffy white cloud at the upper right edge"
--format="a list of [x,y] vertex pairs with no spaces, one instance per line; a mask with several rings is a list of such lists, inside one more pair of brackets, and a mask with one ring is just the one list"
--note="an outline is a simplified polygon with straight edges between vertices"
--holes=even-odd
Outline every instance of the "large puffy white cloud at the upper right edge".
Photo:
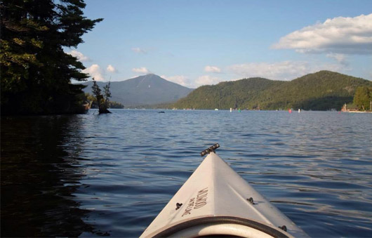
[[332,18],[281,37],[272,48],[300,53],[372,54],[372,13]]

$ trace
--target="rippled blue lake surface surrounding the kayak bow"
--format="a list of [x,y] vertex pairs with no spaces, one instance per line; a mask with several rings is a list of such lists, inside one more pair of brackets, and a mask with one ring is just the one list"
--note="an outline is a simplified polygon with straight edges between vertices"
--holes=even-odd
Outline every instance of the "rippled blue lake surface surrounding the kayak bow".
[[372,114],[1,118],[2,237],[138,237],[217,153],[312,237],[372,236]]

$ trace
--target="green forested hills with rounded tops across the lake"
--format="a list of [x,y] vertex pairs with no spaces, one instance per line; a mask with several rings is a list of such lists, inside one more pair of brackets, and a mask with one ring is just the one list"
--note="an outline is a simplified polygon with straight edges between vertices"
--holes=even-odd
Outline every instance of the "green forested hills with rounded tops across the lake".
[[320,71],[292,81],[249,78],[201,86],[173,106],[194,109],[303,110],[340,109],[351,103],[358,86],[372,81],[337,72]]

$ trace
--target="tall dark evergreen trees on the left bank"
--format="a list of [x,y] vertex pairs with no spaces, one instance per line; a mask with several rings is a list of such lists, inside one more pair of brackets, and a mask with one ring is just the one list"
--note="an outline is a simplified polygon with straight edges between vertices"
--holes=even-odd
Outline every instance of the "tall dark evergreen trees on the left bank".
[[84,65],[63,48],[77,47],[102,19],[83,15],[82,0],[1,1],[1,113],[81,110]]

